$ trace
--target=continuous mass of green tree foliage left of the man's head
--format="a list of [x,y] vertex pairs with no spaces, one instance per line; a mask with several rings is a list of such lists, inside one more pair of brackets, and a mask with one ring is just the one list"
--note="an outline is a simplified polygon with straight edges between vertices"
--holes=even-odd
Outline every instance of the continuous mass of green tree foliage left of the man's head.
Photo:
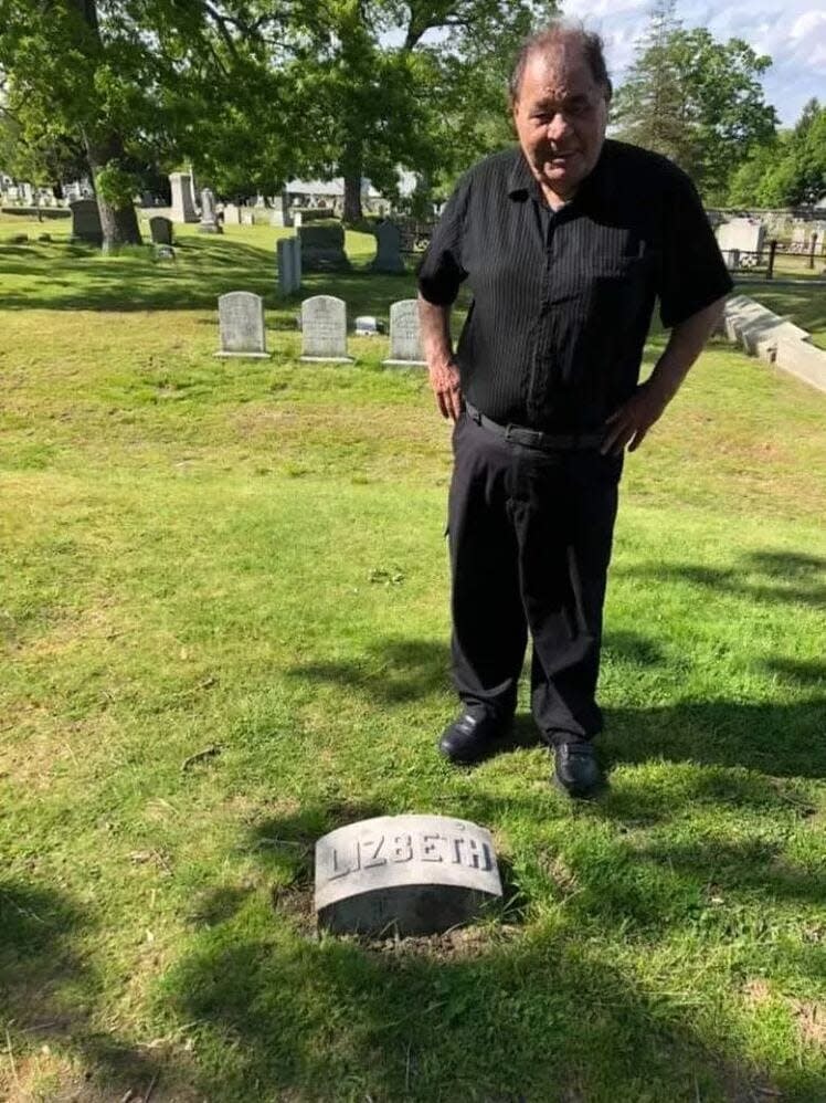
[[358,218],[362,176],[392,191],[401,165],[437,183],[483,139],[508,140],[508,64],[554,11],[553,0],[0,0],[3,112],[38,175],[83,151],[114,241],[137,240],[138,164],[189,162],[221,193],[343,176]]

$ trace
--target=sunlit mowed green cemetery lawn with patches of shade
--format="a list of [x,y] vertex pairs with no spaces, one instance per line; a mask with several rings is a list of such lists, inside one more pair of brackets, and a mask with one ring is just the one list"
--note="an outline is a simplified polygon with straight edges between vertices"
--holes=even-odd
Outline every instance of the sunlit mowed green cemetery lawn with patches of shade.
[[[509,753],[435,754],[424,375],[300,364],[273,230],[173,264],[40,232],[0,225],[0,1097],[823,1103],[824,396],[717,343],[628,458],[612,785],[571,803],[525,698]],[[242,288],[271,360],[213,356]],[[319,292],[386,319],[414,284]],[[315,840],[404,811],[488,827],[504,905],[319,939]]]

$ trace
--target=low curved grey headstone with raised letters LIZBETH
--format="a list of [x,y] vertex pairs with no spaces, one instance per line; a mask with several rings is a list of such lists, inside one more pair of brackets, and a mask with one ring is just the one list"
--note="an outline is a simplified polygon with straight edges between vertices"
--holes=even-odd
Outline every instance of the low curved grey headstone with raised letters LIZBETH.
[[490,832],[469,820],[380,816],[316,843],[316,914],[336,934],[438,934],[501,895]]

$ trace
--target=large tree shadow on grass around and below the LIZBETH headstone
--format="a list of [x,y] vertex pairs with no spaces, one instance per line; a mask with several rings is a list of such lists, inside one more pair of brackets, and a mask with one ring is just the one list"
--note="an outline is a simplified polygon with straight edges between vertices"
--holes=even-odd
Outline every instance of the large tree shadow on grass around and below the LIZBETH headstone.
[[[542,800],[526,796],[516,803],[541,824]],[[379,809],[313,806],[260,824],[252,842],[309,847],[342,816],[352,822],[364,811]],[[493,827],[484,811],[484,795],[468,795],[456,809]],[[266,848],[260,853],[266,872],[282,880],[282,859],[274,863]],[[765,855],[746,845],[721,855],[710,843],[680,852],[615,838],[607,853],[572,836],[562,869],[541,843],[526,853],[533,868],[526,880],[532,878],[546,907],[554,901],[558,907],[551,921],[525,931],[494,925],[449,939],[317,939],[306,915],[296,922],[276,900],[267,920],[268,904],[247,902],[205,934],[162,985],[172,1017],[199,1023],[199,1052],[209,1053],[209,1068],[197,1073],[199,1090],[209,1086],[211,1103],[251,1092],[427,1103],[745,1103],[761,1097],[761,1089],[784,1099],[820,1097],[826,1079],[811,1065],[790,1063],[770,1080],[739,1049],[737,1020],[726,1018],[731,1012],[705,1013],[712,996],[701,987],[679,991],[679,981],[677,990],[650,985],[612,960],[611,946],[626,937],[656,946],[678,927],[739,938],[749,917],[720,907],[712,892],[760,890],[814,902],[822,884],[802,889],[761,872]],[[759,958],[760,949],[755,968]],[[745,973],[732,977],[745,979]],[[721,1017],[729,1028],[722,1032]]]

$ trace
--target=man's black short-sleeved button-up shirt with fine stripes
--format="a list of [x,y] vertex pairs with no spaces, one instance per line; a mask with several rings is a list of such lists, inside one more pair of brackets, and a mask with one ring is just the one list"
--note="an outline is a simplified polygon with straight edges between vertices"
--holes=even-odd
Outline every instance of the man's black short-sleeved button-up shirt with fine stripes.
[[671,327],[732,287],[686,174],[611,139],[557,212],[521,149],[472,168],[436,227],[419,288],[448,305],[465,280],[463,393],[495,421],[549,431],[599,429],[633,393],[656,297]]

